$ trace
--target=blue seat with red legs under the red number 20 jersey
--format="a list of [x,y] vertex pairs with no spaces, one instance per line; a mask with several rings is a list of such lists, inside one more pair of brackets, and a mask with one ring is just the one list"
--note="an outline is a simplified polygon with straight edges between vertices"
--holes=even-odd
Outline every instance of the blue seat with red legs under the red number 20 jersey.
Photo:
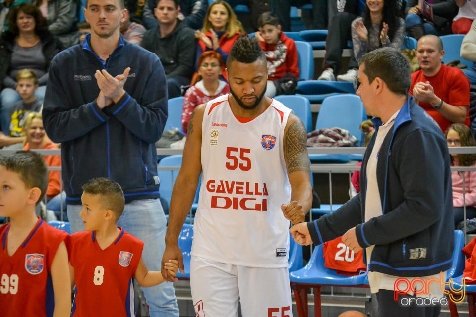
[[321,286],[368,287],[366,272],[347,276],[325,267],[322,244],[314,248],[306,266],[289,273],[289,280],[294,291],[299,316],[308,316],[307,290],[309,288],[314,290],[314,314],[321,317]]

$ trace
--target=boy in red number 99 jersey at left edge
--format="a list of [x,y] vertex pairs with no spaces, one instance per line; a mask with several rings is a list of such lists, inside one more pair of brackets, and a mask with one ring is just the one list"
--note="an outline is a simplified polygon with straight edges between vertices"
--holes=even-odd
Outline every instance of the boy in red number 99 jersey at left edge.
[[36,152],[0,158],[0,216],[10,217],[0,227],[0,317],[71,313],[68,234],[35,213],[47,186],[47,167]]

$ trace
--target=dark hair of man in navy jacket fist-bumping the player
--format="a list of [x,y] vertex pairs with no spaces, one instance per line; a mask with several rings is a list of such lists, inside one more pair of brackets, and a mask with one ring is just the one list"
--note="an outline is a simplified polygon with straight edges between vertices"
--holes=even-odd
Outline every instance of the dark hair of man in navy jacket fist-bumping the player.
[[408,94],[411,83],[410,63],[399,50],[388,47],[376,49],[363,55],[360,64],[365,64],[363,72],[369,83],[379,77],[394,94]]

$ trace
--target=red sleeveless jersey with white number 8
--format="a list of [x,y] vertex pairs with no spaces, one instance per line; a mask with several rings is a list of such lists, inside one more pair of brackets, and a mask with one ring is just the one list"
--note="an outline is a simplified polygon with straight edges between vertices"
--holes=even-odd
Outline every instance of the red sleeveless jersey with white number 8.
[[132,278],[143,247],[142,241],[123,229],[104,250],[94,231],[74,233],[69,261],[74,267],[76,294],[71,316],[135,316]]

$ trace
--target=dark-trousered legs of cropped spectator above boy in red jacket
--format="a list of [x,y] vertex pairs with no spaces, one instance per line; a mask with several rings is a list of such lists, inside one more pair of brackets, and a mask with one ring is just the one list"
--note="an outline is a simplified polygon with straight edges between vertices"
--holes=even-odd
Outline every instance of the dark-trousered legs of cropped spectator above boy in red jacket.
[[272,0],[273,12],[278,16],[283,31],[291,31],[291,6],[312,5],[312,10],[302,10],[302,20],[306,27],[312,29],[327,29],[327,1],[322,0]]

